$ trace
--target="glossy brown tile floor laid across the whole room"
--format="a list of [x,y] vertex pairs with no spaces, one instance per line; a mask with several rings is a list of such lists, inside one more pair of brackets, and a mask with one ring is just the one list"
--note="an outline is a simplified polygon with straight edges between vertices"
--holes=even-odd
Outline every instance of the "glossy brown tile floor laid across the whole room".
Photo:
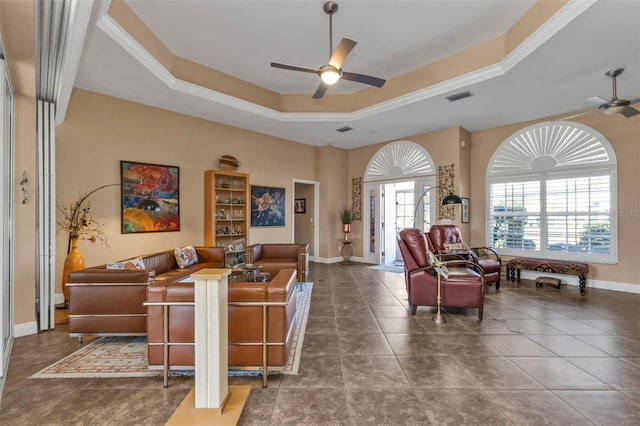
[[[253,385],[241,424],[638,425],[640,295],[503,282],[477,311],[411,317],[402,274],[312,264],[298,376]],[[15,339],[2,425],[161,425],[193,378],[28,379],[77,349],[64,326]]]

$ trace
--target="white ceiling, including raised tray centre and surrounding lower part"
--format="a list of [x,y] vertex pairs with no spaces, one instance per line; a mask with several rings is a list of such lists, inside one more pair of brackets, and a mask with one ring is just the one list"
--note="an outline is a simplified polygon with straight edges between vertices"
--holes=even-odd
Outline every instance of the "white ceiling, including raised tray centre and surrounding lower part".
[[[310,68],[328,61],[323,0],[126,3],[174,55],[277,93],[311,97],[318,78],[271,68],[271,61]],[[341,0],[333,42],[358,42],[345,70],[389,80],[503,34],[533,3]],[[640,1],[592,3],[570,1],[493,67],[352,113],[319,114],[281,113],[176,80],[106,15],[109,2],[101,1],[75,86],[315,146],[350,149],[452,126],[473,132],[596,107],[586,98],[611,97],[604,72],[615,67],[625,68],[618,97],[640,98]],[[366,87],[339,81],[325,98]],[[474,96],[445,99],[463,90]],[[335,131],[343,126],[354,130]]]

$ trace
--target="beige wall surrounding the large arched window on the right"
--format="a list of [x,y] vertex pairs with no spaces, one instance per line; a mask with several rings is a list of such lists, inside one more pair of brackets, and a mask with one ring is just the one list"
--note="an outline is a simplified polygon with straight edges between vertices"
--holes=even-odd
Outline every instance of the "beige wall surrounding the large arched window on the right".
[[[618,264],[589,264],[589,278],[640,284],[638,241],[640,241],[640,120],[592,112],[579,121],[600,132],[611,143],[618,158]],[[471,135],[471,244],[485,243],[485,182],[487,164],[496,148],[513,133],[535,122],[474,132]]]

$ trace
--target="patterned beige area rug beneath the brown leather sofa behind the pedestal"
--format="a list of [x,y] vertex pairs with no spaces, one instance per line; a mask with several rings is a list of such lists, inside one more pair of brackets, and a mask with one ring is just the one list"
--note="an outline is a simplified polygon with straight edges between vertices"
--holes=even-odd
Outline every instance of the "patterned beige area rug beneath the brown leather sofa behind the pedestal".
[[[304,333],[311,306],[313,283],[299,283],[296,327],[287,365],[280,374],[298,374]],[[297,291],[297,290],[296,290]],[[234,374],[230,371],[230,374]],[[243,372],[253,373],[253,372]],[[192,372],[171,371],[171,375]],[[71,355],[38,371],[31,379],[65,378],[111,378],[111,377],[155,377],[162,370],[149,370],[147,361],[147,338],[145,336],[101,337],[78,349]]]

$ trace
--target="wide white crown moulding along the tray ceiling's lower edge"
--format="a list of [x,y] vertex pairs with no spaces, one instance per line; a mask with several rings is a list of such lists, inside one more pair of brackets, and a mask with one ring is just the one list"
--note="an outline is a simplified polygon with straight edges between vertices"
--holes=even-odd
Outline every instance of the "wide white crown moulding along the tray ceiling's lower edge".
[[194,83],[177,79],[156,58],[138,43],[117,21],[105,14],[98,21],[98,27],[120,45],[134,59],[139,61],[161,82],[169,88],[181,93],[195,96],[210,102],[219,103],[248,113],[256,114],[272,120],[283,122],[323,122],[341,121],[352,122],[372,117],[396,108],[420,102],[432,97],[441,96],[454,90],[480,83],[482,81],[501,76],[517,65],[520,61],[535,51],[546,40],[560,31],[575,17],[588,9],[596,0],[570,0],[559,12],[542,24],[524,42],[520,43],[498,63],[469,72],[467,74],[433,84],[420,90],[398,96],[353,112],[344,113],[314,113],[314,112],[281,112],[272,108],[239,99],[213,89],[202,87]]

